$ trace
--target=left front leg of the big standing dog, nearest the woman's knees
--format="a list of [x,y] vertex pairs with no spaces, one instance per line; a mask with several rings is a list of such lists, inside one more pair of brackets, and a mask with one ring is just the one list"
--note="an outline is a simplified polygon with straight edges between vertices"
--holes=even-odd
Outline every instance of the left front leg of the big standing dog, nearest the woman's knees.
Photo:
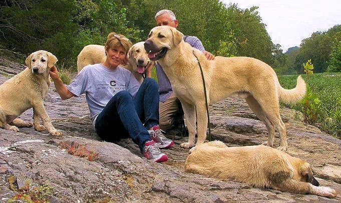
[[184,142],[180,144],[180,146],[183,148],[190,148],[194,146],[194,138],[196,134],[195,106],[184,101],[181,101],[181,105],[184,110],[185,118],[187,120],[188,142]]

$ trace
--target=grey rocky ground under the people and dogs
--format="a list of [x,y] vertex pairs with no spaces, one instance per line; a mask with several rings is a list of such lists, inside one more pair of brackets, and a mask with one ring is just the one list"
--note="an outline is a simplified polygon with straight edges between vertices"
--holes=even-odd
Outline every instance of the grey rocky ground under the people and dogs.
[[[0,84],[24,68],[0,58]],[[62,101],[54,86],[45,99],[45,107],[53,125],[63,130],[63,136],[54,137],[33,128],[21,128],[18,133],[0,129],[0,202],[24,194],[25,184],[30,185],[26,190],[31,194],[46,192],[41,198],[50,202],[341,201],[341,140],[299,121],[299,114],[289,109],[281,112],[288,134],[287,153],[307,160],[321,185],[337,190],[336,198],[253,188],[245,183],[186,173],[188,150],[179,144],[187,137],[175,131],[167,135],[174,138],[175,146],[162,150],[169,160],[150,162],[130,139],[102,141],[92,129],[85,97]],[[28,110],[21,118],[32,120],[32,115],[32,110]],[[229,146],[267,140],[265,126],[241,99],[229,98],[213,104],[210,121],[211,139]],[[114,136],[115,129],[112,133]]]

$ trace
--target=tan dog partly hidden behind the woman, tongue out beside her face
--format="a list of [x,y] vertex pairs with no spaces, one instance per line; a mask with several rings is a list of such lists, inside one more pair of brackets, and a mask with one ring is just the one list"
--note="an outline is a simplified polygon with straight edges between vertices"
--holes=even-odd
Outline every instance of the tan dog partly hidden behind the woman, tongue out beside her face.
[[[144,74],[146,67],[150,64],[148,54],[143,45],[144,42],[138,42],[129,49],[128,65],[123,66],[132,72],[140,83],[143,81],[142,74]],[[104,46],[87,45],[77,57],[77,70],[80,72],[86,65],[103,63],[105,60]]]

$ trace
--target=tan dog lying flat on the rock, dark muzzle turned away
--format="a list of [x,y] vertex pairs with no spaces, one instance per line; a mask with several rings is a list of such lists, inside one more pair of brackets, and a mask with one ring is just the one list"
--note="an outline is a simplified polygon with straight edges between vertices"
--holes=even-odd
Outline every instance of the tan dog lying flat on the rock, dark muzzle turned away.
[[292,193],[337,194],[329,187],[318,187],[308,162],[264,145],[227,147],[221,141],[199,144],[187,157],[185,171]]

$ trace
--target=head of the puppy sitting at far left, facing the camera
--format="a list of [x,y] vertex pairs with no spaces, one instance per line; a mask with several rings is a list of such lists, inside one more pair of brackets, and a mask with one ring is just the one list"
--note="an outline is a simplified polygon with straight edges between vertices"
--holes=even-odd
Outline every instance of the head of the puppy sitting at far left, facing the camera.
[[32,69],[33,74],[44,74],[48,73],[57,61],[58,59],[55,55],[44,50],[39,50],[28,56],[25,63]]

